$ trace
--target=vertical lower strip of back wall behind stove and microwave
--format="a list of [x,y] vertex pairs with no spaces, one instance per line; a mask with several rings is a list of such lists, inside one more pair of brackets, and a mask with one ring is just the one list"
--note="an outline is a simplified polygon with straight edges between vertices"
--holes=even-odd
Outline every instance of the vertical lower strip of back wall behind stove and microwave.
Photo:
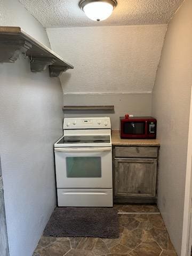
[[115,113],[111,111],[65,111],[65,117],[80,116],[109,116],[113,130],[119,130],[119,116],[126,113],[135,116],[151,115],[151,93],[133,94],[64,94],[65,105],[108,105],[115,106]]

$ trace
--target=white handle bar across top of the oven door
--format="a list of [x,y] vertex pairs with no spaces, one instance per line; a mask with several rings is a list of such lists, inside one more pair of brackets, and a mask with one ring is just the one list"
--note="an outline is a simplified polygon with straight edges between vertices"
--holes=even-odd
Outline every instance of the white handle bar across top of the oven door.
[[103,152],[111,151],[111,147],[102,147],[102,148],[54,148],[55,152],[66,152],[66,153],[82,153],[82,152]]

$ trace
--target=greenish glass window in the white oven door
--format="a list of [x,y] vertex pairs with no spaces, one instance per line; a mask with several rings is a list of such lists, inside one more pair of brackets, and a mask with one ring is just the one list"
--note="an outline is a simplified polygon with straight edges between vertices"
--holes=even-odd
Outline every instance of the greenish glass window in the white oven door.
[[101,157],[66,157],[67,178],[100,178]]

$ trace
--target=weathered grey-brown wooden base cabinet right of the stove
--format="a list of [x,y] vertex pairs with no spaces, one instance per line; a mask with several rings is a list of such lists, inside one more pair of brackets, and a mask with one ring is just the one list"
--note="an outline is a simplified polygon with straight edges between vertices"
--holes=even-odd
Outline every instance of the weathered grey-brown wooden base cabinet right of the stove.
[[156,202],[158,147],[115,146],[114,201]]

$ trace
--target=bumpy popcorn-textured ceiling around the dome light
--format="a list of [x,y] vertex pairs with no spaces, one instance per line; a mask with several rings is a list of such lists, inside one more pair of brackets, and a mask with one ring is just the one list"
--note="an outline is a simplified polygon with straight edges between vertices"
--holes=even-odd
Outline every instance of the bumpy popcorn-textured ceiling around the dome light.
[[150,25],[168,23],[183,0],[117,0],[111,17],[95,22],[79,9],[79,0],[19,0],[44,27]]

